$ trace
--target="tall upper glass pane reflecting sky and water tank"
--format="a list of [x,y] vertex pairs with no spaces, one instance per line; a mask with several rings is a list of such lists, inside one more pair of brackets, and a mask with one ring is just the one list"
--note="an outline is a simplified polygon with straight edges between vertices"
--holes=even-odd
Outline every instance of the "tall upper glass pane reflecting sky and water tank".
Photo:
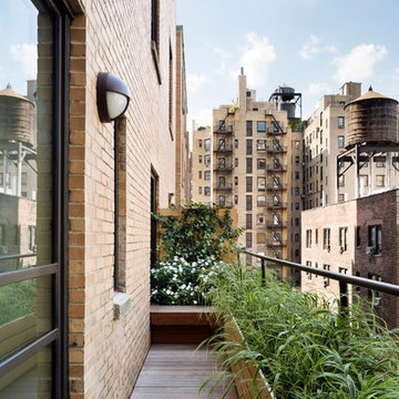
[[1,273],[52,260],[52,20],[2,1],[0,29]]

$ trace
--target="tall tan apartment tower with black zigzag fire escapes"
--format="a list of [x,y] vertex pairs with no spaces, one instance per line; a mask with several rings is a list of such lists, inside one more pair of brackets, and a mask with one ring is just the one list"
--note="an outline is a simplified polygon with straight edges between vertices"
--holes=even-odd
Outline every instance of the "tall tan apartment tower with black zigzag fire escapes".
[[[257,101],[242,73],[237,103],[213,111],[213,201],[237,209],[238,226],[246,228],[242,245],[258,254],[299,260],[298,94],[291,88],[278,92],[276,101],[273,96]],[[288,186],[293,182],[297,188]]]

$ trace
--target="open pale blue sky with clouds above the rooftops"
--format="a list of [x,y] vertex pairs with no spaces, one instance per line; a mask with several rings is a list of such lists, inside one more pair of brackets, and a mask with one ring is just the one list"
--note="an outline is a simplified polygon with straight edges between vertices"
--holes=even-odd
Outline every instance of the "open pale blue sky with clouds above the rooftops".
[[304,119],[348,81],[399,100],[398,16],[398,0],[176,0],[190,130],[236,102],[241,66],[258,100],[300,92]]

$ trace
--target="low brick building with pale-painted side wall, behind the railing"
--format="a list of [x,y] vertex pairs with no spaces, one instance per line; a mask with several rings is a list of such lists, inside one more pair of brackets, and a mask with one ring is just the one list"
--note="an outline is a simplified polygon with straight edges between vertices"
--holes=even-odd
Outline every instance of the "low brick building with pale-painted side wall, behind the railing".
[[[303,258],[307,266],[399,284],[397,188],[303,213]],[[301,289],[328,297],[339,295],[339,284],[303,273]],[[399,326],[399,299],[355,288],[374,300],[377,313],[391,328]]]

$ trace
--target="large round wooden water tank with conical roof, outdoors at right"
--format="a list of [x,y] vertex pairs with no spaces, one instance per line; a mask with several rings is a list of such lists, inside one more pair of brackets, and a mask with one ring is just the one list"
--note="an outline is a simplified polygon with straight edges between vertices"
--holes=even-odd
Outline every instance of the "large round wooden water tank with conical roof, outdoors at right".
[[345,147],[367,143],[398,143],[398,101],[372,91],[345,106]]

